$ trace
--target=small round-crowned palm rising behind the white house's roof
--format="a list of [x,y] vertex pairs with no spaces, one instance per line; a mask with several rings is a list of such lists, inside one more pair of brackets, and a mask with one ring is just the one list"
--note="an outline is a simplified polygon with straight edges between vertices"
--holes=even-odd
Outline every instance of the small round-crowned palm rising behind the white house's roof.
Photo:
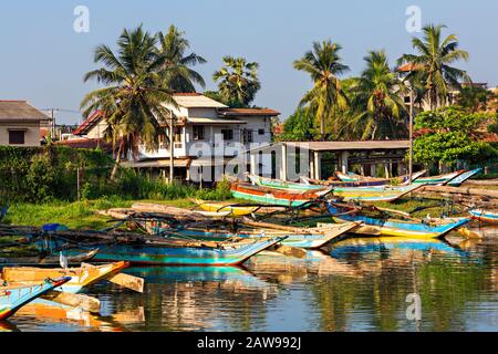
[[261,88],[258,80],[259,64],[245,58],[224,56],[224,66],[215,72],[219,94],[229,106],[248,106]]

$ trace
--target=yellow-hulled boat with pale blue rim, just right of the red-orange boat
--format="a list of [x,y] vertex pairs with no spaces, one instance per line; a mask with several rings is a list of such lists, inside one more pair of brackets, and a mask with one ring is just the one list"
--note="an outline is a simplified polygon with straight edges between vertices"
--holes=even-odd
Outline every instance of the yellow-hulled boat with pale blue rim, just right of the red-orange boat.
[[381,187],[334,187],[332,194],[345,201],[393,201],[421,188],[419,185]]

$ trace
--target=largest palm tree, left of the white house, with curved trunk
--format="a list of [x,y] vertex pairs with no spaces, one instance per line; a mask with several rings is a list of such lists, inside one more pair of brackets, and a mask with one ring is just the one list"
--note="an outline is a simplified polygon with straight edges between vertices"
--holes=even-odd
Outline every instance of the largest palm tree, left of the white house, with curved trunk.
[[96,48],[94,62],[103,67],[84,76],[84,82],[96,80],[106,85],[89,93],[81,107],[85,116],[101,110],[110,126],[107,133],[118,140],[112,178],[123,155],[136,158],[141,145],[158,148],[159,124],[168,116],[163,103],[176,105],[172,91],[164,85],[166,58],[157,53],[156,43],[156,37],[144,32],[142,25],[124,30],[116,53],[104,44]]

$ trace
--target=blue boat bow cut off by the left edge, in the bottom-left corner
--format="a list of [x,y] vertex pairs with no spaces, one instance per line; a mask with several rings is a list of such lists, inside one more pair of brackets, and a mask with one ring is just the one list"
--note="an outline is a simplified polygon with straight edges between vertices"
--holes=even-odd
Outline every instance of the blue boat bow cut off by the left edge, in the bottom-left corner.
[[0,285],[0,321],[7,320],[25,304],[70,280],[70,277],[64,277],[55,280],[45,279],[37,284],[13,283],[6,285],[3,283],[3,285]]

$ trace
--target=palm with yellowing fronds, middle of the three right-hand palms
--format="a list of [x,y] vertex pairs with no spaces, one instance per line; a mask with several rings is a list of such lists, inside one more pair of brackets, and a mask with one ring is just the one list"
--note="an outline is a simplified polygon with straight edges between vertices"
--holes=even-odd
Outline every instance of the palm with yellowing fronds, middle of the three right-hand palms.
[[366,69],[355,90],[355,106],[363,110],[354,122],[363,128],[362,139],[403,136],[406,133],[406,107],[402,94],[406,86],[390,69],[385,51],[371,51],[364,61]]

